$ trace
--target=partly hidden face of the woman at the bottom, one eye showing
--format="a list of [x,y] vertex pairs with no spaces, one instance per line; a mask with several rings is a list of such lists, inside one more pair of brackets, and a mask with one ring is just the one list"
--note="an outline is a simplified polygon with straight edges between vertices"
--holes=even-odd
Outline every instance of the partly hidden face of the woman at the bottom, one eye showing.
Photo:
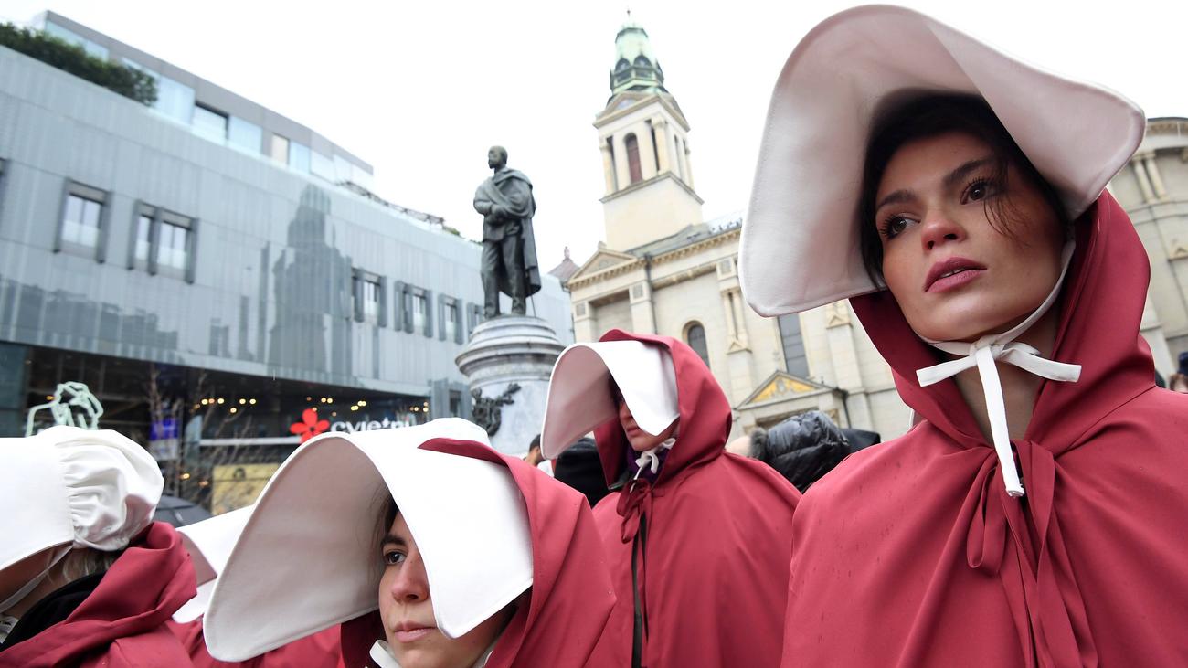
[[491,616],[459,638],[437,629],[429,579],[404,515],[397,513],[380,547],[379,613],[384,635],[402,668],[469,668],[487,650],[512,609]]

